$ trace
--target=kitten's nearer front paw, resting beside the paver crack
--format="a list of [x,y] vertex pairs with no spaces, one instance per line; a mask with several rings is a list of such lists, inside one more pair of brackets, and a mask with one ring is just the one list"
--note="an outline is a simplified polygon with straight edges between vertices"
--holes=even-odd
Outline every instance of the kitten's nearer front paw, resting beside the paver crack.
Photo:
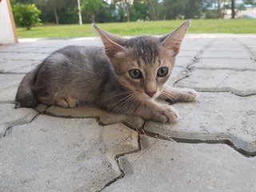
[[175,122],[178,112],[172,106],[162,105],[158,110],[152,112],[151,119],[157,122]]

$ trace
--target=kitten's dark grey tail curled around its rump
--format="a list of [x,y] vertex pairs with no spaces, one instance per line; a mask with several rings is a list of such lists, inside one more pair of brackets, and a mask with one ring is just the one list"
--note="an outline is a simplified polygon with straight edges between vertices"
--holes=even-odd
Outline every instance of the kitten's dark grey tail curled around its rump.
[[38,98],[35,97],[32,87],[34,86],[34,82],[39,70],[40,66],[36,67],[34,70],[31,70],[22,79],[22,82],[20,82],[15,98],[18,107],[34,108],[38,106]]

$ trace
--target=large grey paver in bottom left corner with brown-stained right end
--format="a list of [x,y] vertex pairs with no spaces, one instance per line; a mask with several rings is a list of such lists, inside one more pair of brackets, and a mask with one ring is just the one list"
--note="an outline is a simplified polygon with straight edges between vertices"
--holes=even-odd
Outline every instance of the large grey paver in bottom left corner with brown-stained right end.
[[39,115],[0,139],[0,191],[95,191],[122,173],[114,157],[138,150],[122,124]]

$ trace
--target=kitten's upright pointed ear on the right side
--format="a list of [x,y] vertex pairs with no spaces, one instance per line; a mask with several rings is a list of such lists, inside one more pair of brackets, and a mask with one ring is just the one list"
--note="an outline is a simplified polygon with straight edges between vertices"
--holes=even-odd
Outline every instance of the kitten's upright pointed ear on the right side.
[[170,34],[166,34],[160,38],[162,46],[166,49],[172,50],[174,56],[176,56],[180,50],[182,40],[190,26],[190,21],[184,22],[177,30]]

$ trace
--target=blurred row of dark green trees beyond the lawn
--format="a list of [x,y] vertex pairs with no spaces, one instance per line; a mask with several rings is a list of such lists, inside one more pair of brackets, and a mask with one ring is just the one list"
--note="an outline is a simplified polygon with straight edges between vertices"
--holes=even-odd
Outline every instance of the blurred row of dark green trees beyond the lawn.
[[[256,0],[80,0],[82,21],[127,22],[180,18],[223,18],[231,2],[238,13],[243,4],[256,5]],[[78,23],[77,0],[11,0],[34,3],[43,23]],[[242,4],[239,3],[242,2]]]

